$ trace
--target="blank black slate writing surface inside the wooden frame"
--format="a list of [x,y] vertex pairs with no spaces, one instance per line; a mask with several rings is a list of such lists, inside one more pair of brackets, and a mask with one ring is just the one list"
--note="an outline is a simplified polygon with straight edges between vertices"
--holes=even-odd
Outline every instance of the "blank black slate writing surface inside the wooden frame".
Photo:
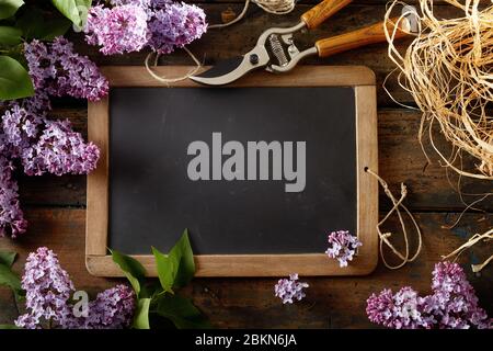
[[[168,251],[188,228],[194,252],[308,253],[356,228],[352,88],[115,88],[110,95],[110,247]],[[191,181],[187,147],[306,141],[306,188],[285,180]],[[245,150],[246,151],[246,150]],[[223,157],[222,159],[227,159]]]

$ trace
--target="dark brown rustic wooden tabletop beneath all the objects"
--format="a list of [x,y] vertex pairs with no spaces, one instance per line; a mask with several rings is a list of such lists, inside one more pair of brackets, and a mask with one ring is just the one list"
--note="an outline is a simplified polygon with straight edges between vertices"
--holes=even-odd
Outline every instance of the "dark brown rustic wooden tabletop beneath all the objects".
[[[205,64],[241,54],[250,49],[259,34],[268,26],[295,24],[299,16],[310,8],[302,1],[288,15],[271,15],[251,5],[246,19],[222,30],[210,30],[190,48]],[[335,14],[319,29],[302,34],[300,46],[308,47],[316,39],[336,35],[382,19],[387,0],[354,1]],[[413,1],[408,1],[413,2]],[[442,1],[437,3],[443,3]],[[202,2],[210,23],[217,23],[220,12],[227,8],[239,13],[241,1],[217,0]],[[456,11],[448,5],[437,5],[437,12],[451,15]],[[73,36],[79,52],[92,57],[100,65],[142,65],[146,53],[104,57],[96,48],[88,47],[80,37]],[[405,41],[401,47],[405,46]],[[162,64],[190,65],[183,53],[165,56]],[[392,190],[398,191],[400,182],[409,186],[406,204],[415,214],[423,231],[424,246],[420,258],[398,271],[389,271],[381,263],[368,276],[362,278],[317,278],[307,279],[310,283],[307,298],[294,306],[283,306],[273,296],[275,279],[196,279],[184,293],[209,316],[213,325],[220,328],[368,328],[374,327],[365,315],[365,301],[372,292],[383,287],[399,288],[412,285],[423,294],[429,292],[431,272],[440,256],[448,253],[475,233],[491,228],[493,223],[493,202],[483,201],[479,206],[484,212],[468,211],[457,226],[451,226],[465,208],[458,193],[454,190],[459,179],[447,174],[438,163],[437,157],[427,150],[433,163],[427,165],[416,135],[420,113],[405,110],[388,98],[381,88],[385,77],[393,66],[386,55],[386,45],[355,49],[328,59],[310,58],[306,65],[365,65],[377,75],[378,84],[378,131],[379,170]],[[412,103],[394,82],[388,84],[390,92],[399,101]],[[288,102],[286,102],[288,103]],[[291,102],[289,102],[291,103]],[[85,104],[74,100],[59,100],[54,103],[53,117],[69,118],[76,128],[87,134]],[[439,138],[439,134],[436,133]],[[446,148],[443,140],[437,143]],[[47,246],[58,252],[65,269],[72,276],[77,288],[87,290],[92,295],[121,282],[121,280],[96,279],[84,267],[85,230],[85,177],[24,177],[19,174],[21,201],[30,222],[27,234],[12,241],[0,240],[0,249],[20,253],[15,270],[22,272],[27,252],[39,246]],[[492,190],[491,183],[460,180],[465,193],[484,193]],[[452,188],[454,186],[454,188]],[[466,196],[466,201],[477,197]],[[380,213],[389,208],[389,203],[380,193]],[[399,230],[393,218],[387,229]],[[488,254],[488,248],[480,246],[459,259],[468,271],[480,302],[493,315],[492,269],[481,274],[472,274],[469,264],[477,263]],[[11,322],[18,309],[10,291],[0,288],[0,324]]]

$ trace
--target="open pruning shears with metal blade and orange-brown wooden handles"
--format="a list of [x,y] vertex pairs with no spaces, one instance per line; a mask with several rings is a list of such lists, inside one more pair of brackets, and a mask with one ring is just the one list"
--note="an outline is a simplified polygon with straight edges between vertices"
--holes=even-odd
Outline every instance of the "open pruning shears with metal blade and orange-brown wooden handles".
[[[298,49],[295,44],[295,33],[305,29],[317,27],[351,2],[352,0],[324,0],[305,12],[300,22],[295,26],[266,30],[259,37],[255,47],[249,53],[220,61],[210,69],[192,76],[191,79],[208,86],[222,86],[259,68],[276,73],[287,72],[307,56],[328,57],[368,44],[386,42],[383,27],[386,23],[379,22],[354,32],[319,39],[314,43],[314,46],[305,50]],[[395,25],[398,26],[394,38],[404,37],[412,32],[412,24],[408,18],[402,21],[399,20],[399,18],[391,19],[387,23],[390,33]]]

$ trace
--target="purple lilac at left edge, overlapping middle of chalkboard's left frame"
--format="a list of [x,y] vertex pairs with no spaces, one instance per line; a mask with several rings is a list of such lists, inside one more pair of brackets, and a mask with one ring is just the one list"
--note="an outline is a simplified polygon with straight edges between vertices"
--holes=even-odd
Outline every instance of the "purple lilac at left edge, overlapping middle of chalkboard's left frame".
[[96,166],[98,147],[84,143],[68,121],[47,120],[48,109],[49,100],[36,94],[22,103],[10,102],[0,117],[0,236],[15,238],[27,228],[12,178],[13,159],[21,160],[28,176],[82,174]]

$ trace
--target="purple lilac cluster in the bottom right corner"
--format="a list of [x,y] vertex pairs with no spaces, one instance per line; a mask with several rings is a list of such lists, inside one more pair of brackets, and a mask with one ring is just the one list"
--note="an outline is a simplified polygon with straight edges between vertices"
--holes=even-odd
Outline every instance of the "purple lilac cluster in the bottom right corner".
[[367,301],[369,320],[395,329],[493,328],[493,319],[479,307],[474,288],[457,263],[435,265],[431,295],[420,297],[406,286],[392,294],[383,290]]

